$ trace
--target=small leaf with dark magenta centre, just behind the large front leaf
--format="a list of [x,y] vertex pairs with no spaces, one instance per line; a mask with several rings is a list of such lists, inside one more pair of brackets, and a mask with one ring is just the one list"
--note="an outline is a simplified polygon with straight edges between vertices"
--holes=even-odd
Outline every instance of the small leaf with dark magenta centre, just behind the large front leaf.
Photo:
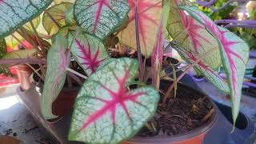
[[[104,44],[94,36],[77,30],[69,34],[71,52],[87,75],[93,74],[103,61],[110,58]],[[75,38],[74,38],[75,37]]]

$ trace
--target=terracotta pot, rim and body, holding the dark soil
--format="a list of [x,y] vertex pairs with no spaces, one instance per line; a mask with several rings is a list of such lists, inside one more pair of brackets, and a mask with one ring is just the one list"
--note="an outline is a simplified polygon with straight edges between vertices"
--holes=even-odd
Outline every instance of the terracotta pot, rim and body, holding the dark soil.
[[178,84],[179,90],[191,90],[194,94],[206,96],[209,100],[211,105],[214,108],[214,113],[210,116],[207,122],[203,123],[202,126],[186,132],[185,134],[178,134],[169,137],[141,137],[141,136],[134,136],[129,141],[121,142],[121,144],[201,144],[203,139],[205,138],[206,133],[214,126],[217,122],[217,111],[218,108],[214,104],[214,102],[204,94],[202,91],[196,90],[190,86],[186,86],[185,84],[179,83]]

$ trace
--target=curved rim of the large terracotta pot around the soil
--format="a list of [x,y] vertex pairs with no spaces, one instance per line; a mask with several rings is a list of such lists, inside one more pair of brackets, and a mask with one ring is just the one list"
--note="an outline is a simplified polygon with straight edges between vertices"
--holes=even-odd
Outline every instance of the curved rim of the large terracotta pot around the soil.
[[141,137],[141,136],[134,136],[134,138],[131,138],[129,140],[129,142],[138,142],[138,143],[139,142],[141,142],[141,143],[182,142],[182,141],[185,141],[185,140],[190,140],[190,139],[193,139],[195,137],[198,137],[199,135],[206,134],[206,132],[209,131],[214,126],[214,124],[217,122],[217,118],[218,118],[218,114],[217,114],[218,107],[215,105],[214,101],[207,94],[202,92],[201,90],[196,90],[196,89],[192,88],[191,86],[188,86],[188,85],[186,85],[185,83],[182,83],[182,82],[178,82],[178,85],[187,87],[190,90],[194,90],[198,94],[202,94],[202,95],[207,96],[207,98],[210,100],[211,104],[214,107],[214,114],[212,115],[210,120],[208,120],[208,122],[206,122],[202,126],[199,126],[196,129],[194,129],[194,130],[186,132],[185,134],[177,134],[177,135],[170,136],[170,137]]

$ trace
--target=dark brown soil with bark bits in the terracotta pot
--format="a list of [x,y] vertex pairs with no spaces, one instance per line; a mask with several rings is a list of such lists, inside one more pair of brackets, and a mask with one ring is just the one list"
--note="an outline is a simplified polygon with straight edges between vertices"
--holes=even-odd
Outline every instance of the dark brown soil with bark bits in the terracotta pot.
[[[161,86],[166,91],[166,84]],[[190,88],[178,86],[176,98],[169,98],[165,105],[158,106],[154,118],[148,122],[155,131],[143,127],[137,134],[142,137],[166,137],[184,134],[208,122],[214,109],[205,95],[197,94]]]

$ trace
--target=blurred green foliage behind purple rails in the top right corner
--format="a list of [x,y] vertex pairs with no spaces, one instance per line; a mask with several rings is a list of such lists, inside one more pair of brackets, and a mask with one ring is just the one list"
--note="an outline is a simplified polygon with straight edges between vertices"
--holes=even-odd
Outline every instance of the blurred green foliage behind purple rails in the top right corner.
[[[206,6],[205,5],[201,6],[200,4],[201,3],[198,3],[197,5],[198,8],[202,10],[205,14],[207,14],[215,22],[218,22],[218,20],[222,20],[222,19],[226,19],[226,20],[240,19],[240,22],[243,25],[242,20],[256,19],[256,10],[255,10],[256,2],[255,1],[242,3],[242,1],[236,2],[236,1],[220,0],[220,1],[214,1],[213,4],[209,4]],[[240,10],[242,12],[240,12]],[[242,18],[239,18],[239,17],[242,17]],[[226,25],[226,23],[221,23],[221,22],[219,24]],[[248,26],[246,28],[241,26],[232,26],[230,28],[230,31],[234,32],[240,38],[242,38],[250,46],[250,50],[255,50],[256,48],[255,27],[250,28]]]

